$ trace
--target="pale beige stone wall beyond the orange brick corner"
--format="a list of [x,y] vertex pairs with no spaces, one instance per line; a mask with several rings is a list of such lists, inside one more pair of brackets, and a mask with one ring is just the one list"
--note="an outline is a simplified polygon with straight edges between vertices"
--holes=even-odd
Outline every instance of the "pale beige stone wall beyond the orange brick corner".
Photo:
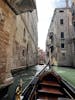
[[37,63],[37,21],[36,25],[34,24],[37,16],[33,19],[33,12],[17,16],[12,70],[36,65]]

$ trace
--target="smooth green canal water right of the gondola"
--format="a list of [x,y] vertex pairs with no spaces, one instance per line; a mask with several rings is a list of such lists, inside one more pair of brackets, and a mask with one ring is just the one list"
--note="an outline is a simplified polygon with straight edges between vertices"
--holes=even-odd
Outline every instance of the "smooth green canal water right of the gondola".
[[75,69],[68,68],[68,67],[56,67],[54,66],[53,69],[68,83],[70,83],[73,87],[75,87]]

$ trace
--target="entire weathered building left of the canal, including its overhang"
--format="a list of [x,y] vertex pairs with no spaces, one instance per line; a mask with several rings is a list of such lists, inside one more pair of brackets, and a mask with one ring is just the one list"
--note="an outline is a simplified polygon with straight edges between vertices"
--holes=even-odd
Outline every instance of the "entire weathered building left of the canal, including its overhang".
[[0,87],[13,82],[11,70],[38,63],[38,17],[33,1],[0,0]]

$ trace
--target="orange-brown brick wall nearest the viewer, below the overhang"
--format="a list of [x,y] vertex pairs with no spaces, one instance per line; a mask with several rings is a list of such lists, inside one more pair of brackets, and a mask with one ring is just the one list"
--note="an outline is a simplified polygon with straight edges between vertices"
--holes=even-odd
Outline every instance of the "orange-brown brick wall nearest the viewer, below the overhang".
[[11,78],[12,44],[15,33],[15,15],[11,9],[0,0],[0,83],[6,83]]

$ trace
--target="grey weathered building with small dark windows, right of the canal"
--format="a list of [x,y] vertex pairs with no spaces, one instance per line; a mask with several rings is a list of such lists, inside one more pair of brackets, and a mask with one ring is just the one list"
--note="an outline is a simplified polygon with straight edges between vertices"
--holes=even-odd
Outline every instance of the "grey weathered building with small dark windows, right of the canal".
[[68,7],[56,8],[48,30],[46,42],[47,51],[50,52],[49,58],[51,64],[59,66],[73,65],[72,28],[71,9]]

